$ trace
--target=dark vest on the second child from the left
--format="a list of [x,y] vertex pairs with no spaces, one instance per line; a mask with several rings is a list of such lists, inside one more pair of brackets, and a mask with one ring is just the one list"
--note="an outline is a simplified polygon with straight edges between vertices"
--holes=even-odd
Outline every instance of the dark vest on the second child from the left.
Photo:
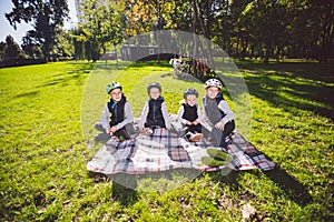
[[148,127],[159,125],[161,128],[166,128],[165,119],[163,117],[161,104],[164,102],[164,98],[159,97],[157,100],[150,99],[148,101],[148,115],[146,119],[146,123]]

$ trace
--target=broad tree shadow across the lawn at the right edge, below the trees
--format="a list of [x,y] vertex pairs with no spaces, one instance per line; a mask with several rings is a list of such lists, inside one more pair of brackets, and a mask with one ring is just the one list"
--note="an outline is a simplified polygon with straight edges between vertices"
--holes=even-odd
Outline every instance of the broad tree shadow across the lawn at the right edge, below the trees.
[[287,111],[308,110],[334,121],[333,65],[242,63],[249,93]]

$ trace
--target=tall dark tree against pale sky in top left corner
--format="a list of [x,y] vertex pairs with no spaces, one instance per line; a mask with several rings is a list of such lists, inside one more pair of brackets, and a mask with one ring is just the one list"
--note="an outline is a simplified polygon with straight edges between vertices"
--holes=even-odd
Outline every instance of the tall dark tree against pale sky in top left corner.
[[31,22],[33,30],[26,36],[26,43],[40,48],[42,59],[49,61],[57,33],[68,16],[67,0],[12,0],[12,3],[14,8],[6,18],[14,29],[21,21]]

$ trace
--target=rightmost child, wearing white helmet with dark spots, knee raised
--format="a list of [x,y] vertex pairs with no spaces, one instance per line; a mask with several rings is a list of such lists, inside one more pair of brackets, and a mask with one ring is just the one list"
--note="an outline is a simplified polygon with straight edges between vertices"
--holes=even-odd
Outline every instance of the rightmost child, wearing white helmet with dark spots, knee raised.
[[235,129],[234,113],[220,92],[223,84],[217,79],[205,82],[206,95],[203,98],[204,119],[213,125],[212,135],[215,145],[226,148],[225,139]]

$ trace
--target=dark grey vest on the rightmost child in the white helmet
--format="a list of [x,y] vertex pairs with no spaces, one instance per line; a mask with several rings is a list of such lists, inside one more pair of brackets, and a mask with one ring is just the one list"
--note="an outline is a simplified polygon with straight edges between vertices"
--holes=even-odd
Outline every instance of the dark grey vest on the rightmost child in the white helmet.
[[215,99],[210,99],[209,97],[203,98],[203,105],[207,118],[213,124],[219,122],[226,114],[219,110],[218,104],[224,100],[223,94],[219,92]]

